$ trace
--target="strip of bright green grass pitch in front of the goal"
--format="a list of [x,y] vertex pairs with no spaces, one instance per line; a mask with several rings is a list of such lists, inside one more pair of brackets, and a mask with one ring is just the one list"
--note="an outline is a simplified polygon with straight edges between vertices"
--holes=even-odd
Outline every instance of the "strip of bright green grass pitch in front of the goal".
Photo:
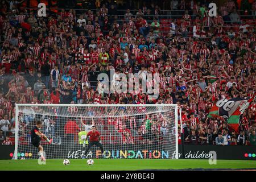
[[0,160],[0,171],[3,170],[96,170],[96,171],[123,171],[143,169],[249,169],[256,168],[253,160],[217,160],[216,165],[210,165],[208,160],[197,159],[94,159],[94,165],[88,166],[86,159],[71,159],[69,166],[63,165],[63,160],[46,161],[46,165],[39,165],[37,160]]

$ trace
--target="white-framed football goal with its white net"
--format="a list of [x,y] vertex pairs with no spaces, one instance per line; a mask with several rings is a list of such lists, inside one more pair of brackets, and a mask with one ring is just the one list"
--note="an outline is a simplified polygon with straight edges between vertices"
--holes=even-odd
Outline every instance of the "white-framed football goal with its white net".
[[16,104],[14,159],[38,159],[30,133],[36,121],[49,139],[41,145],[47,159],[102,158],[97,146],[85,150],[92,126],[101,134],[106,159],[177,159],[177,105]]

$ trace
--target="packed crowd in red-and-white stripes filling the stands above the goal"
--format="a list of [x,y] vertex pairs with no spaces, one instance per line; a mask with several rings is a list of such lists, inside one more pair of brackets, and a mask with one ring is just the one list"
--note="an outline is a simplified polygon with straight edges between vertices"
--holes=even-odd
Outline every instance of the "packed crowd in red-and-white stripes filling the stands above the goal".
[[[207,118],[216,101],[256,92],[255,1],[245,10],[228,0],[210,17],[207,3],[172,0],[171,10],[184,10],[172,19],[145,3],[122,15],[115,3],[102,2],[96,10],[61,9],[46,17],[17,2],[1,3],[2,131],[15,127],[15,103],[178,104],[185,143],[256,145],[254,102],[239,131],[222,118]],[[110,76],[113,68],[159,73],[158,99],[98,92],[97,76]]]

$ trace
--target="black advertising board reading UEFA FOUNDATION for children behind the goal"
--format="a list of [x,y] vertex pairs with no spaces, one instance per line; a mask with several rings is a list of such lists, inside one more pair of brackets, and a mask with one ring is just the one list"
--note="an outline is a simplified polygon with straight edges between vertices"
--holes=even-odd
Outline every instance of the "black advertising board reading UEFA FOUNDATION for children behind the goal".
[[[63,146],[51,146],[51,151],[58,151],[54,156],[52,152],[49,152],[49,147],[44,147],[48,158],[56,159],[58,156],[65,156],[68,159],[81,159],[84,152],[84,148],[81,146],[73,146],[69,148],[63,148]],[[111,147],[112,148],[112,147]],[[167,151],[160,150],[158,148],[134,148],[114,146],[110,150],[105,150],[106,156],[109,158],[151,158],[151,159],[166,159],[174,158],[175,154],[168,154]],[[227,160],[256,160],[256,146],[194,146],[185,145],[185,159],[208,159],[210,157],[209,152],[216,151],[217,159]],[[0,159],[12,159],[14,152],[14,146],[0,146]],[[90,153],[91,152],[91,153]],[[97,158],[100,156],[100,151],[97,148],[92,148],[89,152],[90,158]],[[181,156],[181,146],[179,147],[179,156]],[[24,157],[26,159],[37,159],[38,151],[35,147],[27,146],[27,151],[20,151],[18,153],[18,159]],[[92,155],[91,155],[92,154]]]

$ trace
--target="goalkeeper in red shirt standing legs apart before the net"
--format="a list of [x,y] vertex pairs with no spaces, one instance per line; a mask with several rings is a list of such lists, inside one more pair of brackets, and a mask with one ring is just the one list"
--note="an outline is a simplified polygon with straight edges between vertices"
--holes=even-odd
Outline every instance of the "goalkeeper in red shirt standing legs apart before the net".
[[88,134],[86,135],[85,141],[87,140],[88,137],[90,137],[89,144],[88,144],[88,148],[86,148],[84,155],[86,155],[87,152],[90,150],[90,148],[92,148],[92,146],[95,144],[97,147],[100,147],[101,154],[105,158],[105,155],[103,154],[103,147],[101,144],[100,132],[96,130],[95,126],[92,126],[92,131],[88,132]]

